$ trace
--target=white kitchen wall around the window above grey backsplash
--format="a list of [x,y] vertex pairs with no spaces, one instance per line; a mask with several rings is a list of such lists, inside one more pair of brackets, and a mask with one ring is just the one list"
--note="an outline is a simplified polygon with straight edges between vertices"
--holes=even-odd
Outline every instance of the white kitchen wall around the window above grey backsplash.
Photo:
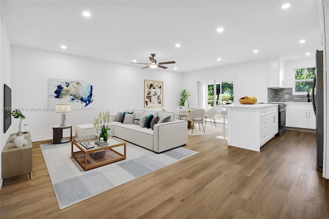
[[294,87],[294,69],[304,67],[315,67],[315,57],[286,61],[284,87]]

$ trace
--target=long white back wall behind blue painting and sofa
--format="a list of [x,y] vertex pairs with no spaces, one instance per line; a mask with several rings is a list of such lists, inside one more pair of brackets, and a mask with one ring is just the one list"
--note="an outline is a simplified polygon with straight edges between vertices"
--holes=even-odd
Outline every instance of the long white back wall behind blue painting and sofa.
[[[74,127],[76,124],[93,123],[100,111],[108,110],[115,115],[123,109],[142,109],[144,79],[147,79],[163,81],[163,107],[176,108],[182,88],[182,73],[141,67],[12,46],[12,106],[24,109],[48,107],[48,78],[87,81],[94,86],[94,108],[67,113],[66,124]],[[52,139],[52,126],[61,122],[61,115],[55,112],[25,110],[23,114],[26,116],[23,122],[29,125],[33,141]],[[18,126],[19,120],[13,119],[12,131],[18,130]]]

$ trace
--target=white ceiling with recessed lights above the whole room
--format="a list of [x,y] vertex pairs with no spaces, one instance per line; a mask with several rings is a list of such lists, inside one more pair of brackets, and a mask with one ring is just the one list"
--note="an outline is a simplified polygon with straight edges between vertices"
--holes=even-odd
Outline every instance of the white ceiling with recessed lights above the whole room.
[[[284,3],[290,8],[282,9]],[[321,49],[317,1],[1,1],[12,45],[188,72]],[[87,18],[83,11],[92,15]],[[223,27],[218,33],[216,29]],[[300,44],[304,39],[306,42]],[[176,48],[175,44],[181,44]],[[61,45],[67,49],[62,50]],[[253,50],[258,49],[258,53]],[[310,56],[305,53],[310,52]],[[221,58],[221,61],[217,61]],[[142,68],[144,65],[135,65]],[[174,70],[177,67],[177,70]],[[156,70],[156,69],[144,69]]]

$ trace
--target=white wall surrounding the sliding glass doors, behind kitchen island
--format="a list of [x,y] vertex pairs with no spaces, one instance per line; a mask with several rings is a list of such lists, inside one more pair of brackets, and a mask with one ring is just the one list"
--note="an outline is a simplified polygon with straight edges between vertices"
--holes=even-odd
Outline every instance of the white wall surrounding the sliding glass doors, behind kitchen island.
[[216,66],[186,73],[184,88],[191,94],[191,107],[197,107],[197,81],[214,79],[234,79],[235,104],[239,104],[239,98],[243,96],[255,96],[258,102],[267,102],[267,60]]

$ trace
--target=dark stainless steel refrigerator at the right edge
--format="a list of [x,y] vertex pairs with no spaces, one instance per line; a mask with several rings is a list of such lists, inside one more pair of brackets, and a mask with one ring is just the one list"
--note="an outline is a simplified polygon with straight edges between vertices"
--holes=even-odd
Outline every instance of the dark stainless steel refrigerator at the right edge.
[[[316,51],[316,74],[313,80],[312,103],[316,115],[316,152],[317,167],[322,173],[323,168],[323,51]],[[316,96],[315,96],[316,93]]]

